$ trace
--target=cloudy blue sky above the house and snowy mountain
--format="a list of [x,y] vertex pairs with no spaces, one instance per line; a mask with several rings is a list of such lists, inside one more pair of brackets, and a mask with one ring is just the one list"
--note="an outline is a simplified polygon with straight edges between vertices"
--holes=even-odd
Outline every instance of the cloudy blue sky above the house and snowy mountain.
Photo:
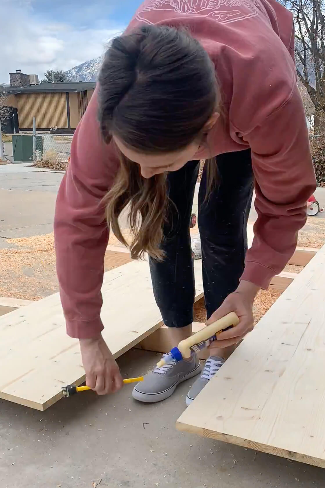
[[0,83],[21,69],[41,79],[100,56],[140,0],[0,0]]

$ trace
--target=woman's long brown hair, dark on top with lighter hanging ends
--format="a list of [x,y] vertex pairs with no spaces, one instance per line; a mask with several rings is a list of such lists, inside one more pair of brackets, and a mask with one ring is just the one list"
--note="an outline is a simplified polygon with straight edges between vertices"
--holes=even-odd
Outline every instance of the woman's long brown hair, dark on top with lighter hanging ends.
[[[202,141],[203,128],[219,102],[214,65],[207,52],[185,30],[167,26],[146,25],[115,38],[105,54],[98,83],[104,140],[111,142],[115,135],[146,154],[169,153]],[[145,179],[138,164],[117,152],[119,170],[105,199],[108,223],[126,244],[118,217],[130,204],[131,256],[148,252],[160,260],[169,204],[167,173]],[[208,164],[209,190],[216,163],[213,159]]]

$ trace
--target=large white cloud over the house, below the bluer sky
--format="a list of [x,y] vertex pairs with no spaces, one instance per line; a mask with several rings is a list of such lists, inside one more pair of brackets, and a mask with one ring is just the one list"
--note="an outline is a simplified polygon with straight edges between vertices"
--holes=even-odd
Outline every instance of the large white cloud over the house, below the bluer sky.
[[[124,26],[76,28],[68,22],[39,18],[31,0],[0,0],[0,83],[9,72],[38,74],[47,69],[68,70],[100,56],[104,45]],[[77,7],[76,7],[77,8]]]

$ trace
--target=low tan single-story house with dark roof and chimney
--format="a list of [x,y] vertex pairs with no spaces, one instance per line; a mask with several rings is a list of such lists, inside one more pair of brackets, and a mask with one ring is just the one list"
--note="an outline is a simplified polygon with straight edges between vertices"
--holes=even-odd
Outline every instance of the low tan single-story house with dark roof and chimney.
[[96,82],[38,83],[37,75],[21,70],[9,73],[10,85],[0,85],[5,93],[9,116],[1,121],[2,132],[18,133],[33,130],[33,117],[38,131],[72,134],[88,102]]

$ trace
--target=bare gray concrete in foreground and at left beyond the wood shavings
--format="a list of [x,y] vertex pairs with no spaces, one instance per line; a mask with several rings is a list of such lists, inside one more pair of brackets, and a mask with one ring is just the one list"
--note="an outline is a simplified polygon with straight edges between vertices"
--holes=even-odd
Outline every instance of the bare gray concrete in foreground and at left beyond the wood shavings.
[[[0,166],[0,205],[5,209],[0,236],[51,232],[62,176],[25,165]],[[1,244],[6,244],[4,238]],[[124,377],[136,376],[152,369],[158,357],[131,350],[118,363]],[[165,402],[148,405],[132,399],[132,386],[113,396],[85,392],[45,412],[0,401],[0,486],[324,487],[324,469],[177,432],[175,421],[193,381]]]

